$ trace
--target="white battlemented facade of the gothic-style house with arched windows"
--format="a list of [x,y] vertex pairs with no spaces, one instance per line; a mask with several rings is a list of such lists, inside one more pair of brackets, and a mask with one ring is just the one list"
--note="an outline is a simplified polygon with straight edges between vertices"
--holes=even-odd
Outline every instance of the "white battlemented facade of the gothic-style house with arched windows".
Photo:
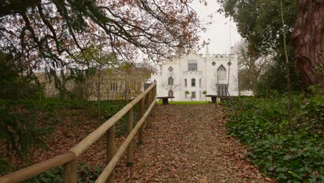
[[[188,60],[197,60],[197,71],[188,71]],[[228,62],[231,61],[231,66],[228,66]],[[213,66],[213,62],[215,65]],[[224,65],[226,68],[226,73],[229,73],[226,80],[217,81],[217,69],[220,65]],[[172,67],[173,71],[168,71],[168,68]],[[174,85],[172,90],[174,92],[174,101],[190,101],[190,98],[186,98],[186,91],[196,92],[196,98],[192,98],[192,101],[205,101],[206,99],[210,101],[210,98],[205,98],[204,92],[207,91],[208,94],[217,95],[217,83],[218,84],[228,84],[228,92],[231,96],[238,95],[238,82],[237,82],[237,56],[232,55],[209,55],[206,54],[206,58],[202,55],[197,55],[195,53],[190,53],[189,55],[184,55],[180,58],[174,59],[172,61],[164,61],[161,64],[161,69],[152,74],[151,81],[156,80],[157,95],[158,96],[168,96],[168,90],[171,88],[168,86],[168,78],[172,76],[174,78]],[[184,85],[184,79],[187,79],[187,87]],[[196,79],[196,86],[191,87],[191,79]],[[201,79],[201,87],[199,87],[199,79]],[[174,88],[175,87],[175,88]]]

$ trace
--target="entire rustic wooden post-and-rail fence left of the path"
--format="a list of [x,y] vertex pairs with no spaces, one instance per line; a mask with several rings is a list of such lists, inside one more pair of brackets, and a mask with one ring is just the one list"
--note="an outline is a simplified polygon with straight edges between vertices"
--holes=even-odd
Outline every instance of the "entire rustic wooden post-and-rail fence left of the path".
[[[133,129],[133,107],[137,103],[139,103],[139,121],[136,123]],[[91,132],[91,134],[80,141],[80,143],[78,143],[76,146],[71,148],[67,153],[0,177],[0,182],[19,182],[57,166],[64,167],[64,182],[77,182],[78,156],[80,156],[85,150],[87,150],[87,148],[89,148],[89,146],[91,146],[91,144],[95,143],[104,134],[106,134],[107,143],[107,166],[99,175],[96,182],[115,182],[114,168],[120,157],[123,155],[123,153],[125,153],[125,150],[127,150],[127,166],[132,166],[134,137],[136,134],[138,134],[138,143],[143,144],[143,127],[145,126],[143,124],[146,123],[146,125],[150,125],[150,115],[154,113],[155,105],[156,84],[153,83],[150,85],[150,87],[145,89],[142,94],[127,104],[117,114],[112,116],[111,119],[100,125],[99,128]],[[147,108],[146,111],[145,108]],[[128,117],[127,138],[115,153],[115,124],[125,114],[127,114]]]

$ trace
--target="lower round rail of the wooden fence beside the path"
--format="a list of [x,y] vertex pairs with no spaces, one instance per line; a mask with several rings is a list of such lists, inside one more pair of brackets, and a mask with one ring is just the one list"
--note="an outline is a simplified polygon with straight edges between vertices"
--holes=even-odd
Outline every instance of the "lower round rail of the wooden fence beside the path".
[[106,182],[106,180],[109,177],[109,175],[111,174],[111,172],[114,171],[114,168],[118,163],[118,160],[120,159],[120,157],[122,157],[123,153],[125,153],[125,150],[127,149],[129,143],[132,142],[132,140],[134,139],[136,133],[138,132],[138,130],[143,125],[145,119],[147,118],[147,116],[149,116],[149,114],[150,114],[152,108],[154,107],[155,103],[156,103],[156,99],[154,99],[154,101],[151,103],[150,107],[147,109],[147,111],[143,115],[143,118],[141,118],[141,120],[138,121],[138,123],[136,124],[136,126],[134,127],[132,132],[127,136],[127,138],[125,139],[123,144],[117,150],[117,152],[116,152],[115,156],[113,157],[113,159],[110,160],[109,164],[105,167],[105,169],[102,171],[102,173],[100,174],[100,176],[96,180],[96,183],[101,183],[101,182],[105,183]]

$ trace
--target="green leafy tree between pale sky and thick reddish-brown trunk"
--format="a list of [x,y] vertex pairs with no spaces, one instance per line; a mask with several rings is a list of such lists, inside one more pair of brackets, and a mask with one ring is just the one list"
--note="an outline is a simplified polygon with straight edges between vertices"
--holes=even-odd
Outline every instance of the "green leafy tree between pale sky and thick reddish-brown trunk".
[[[258,90],[276,89],[285,92],[287,89],[287,68],[291,73],[291,87],[300,89],[300,78],[294,69],[294,47],[291,35],[298,12],[298,2],[283,0],[283,15],[285,18],[285,34],[287,35],[287,50],[289,67],[285,66],[285,51],[283,45],[282,20],[280,3],[277,0],[217,0],[221,4],[218,12],[235,21],[237,31],[246,42],[244,55],[249,60],[258,60],[271,55],[271,62],[262,70],[258,78]],[[239,56],[242,54],[238,53]],[[273,78],[273,76],[276,76]],[[256,81],[255,81],[256,82]],[[262,85],[260,85],[262,84]]]

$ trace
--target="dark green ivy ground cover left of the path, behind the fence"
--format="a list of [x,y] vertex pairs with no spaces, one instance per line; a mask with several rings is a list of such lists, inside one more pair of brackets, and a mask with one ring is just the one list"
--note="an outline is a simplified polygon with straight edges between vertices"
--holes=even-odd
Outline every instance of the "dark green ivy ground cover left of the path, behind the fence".
[[[129,101],[100,101],[100,122],[104,123],[107,121],[107,119],[111,118],[111,116],[114,116],[118,111],[120,111],[125,105],[127,105]],[[24,141],[15,141],[15,143],[10,143],[10,141],[6,141],[4,138],[5,133],[0,134],[0,141],[6,141],[8,143],[8,146],[12,148],[17,148],[17,153],[19,155],[26,157],[29,153],[33,153],[33,151],[30,151],[30,148],[33,147],[35,150],[36,148],[44,148],[46,147],[46,144],[44,141],[39,141],[39,139],[46,139],[45,134],[48,134],[51,136],[51,132],[55,131],[56,126],[59,123],[62,123],[64,119],[69,118],[69,115],[71,114],[66,113],[67,112],[85,112],[89,114],[90,119],[95,119],[95,123],[97,124],[98,120],[98,101],[65,101],[60,100],[57,98],[43,98],[42,100],[34,100],[33,104],[29,103],[29,101],[20,101],[19,107],[24,109],[30,109],[33,108],[33,106],[37,106],[37,110],[34,110],[33,112],[39,114],[35,115],[33,113],[26,113],[24,114],[24,121],[33,121],[33,124],[28,124],[29,128],[24,128],[23,132],[20,132],[19,135],[21,135],[21,138],[24,137]],[[16,114],[17,115],[17,114]],[[7,116],[8,114],[4,115]],[[3,116],[0,116],[1,119],[3,119]],[[17,116],[16,116],[17,118]],[[21,121],[22,121],[21,119]],[[17,125],[21,125],[21,121],[17,123]],[[136,122],[138,121],[138,105],[134,106],[134,125],[136,125]],[[5,121],[7,125],[8,121]],[[75,123],[75,121],[73,121]],[[97,124],[98,126],[100,124]],[[37,128],[36,128],[37,126]],[[33,128],[37,130],[33,130]],[[1,129],[3,130],[3,129]],[[37,132],[37,133],[33,133]],[[90,131],[91,132],[91,131]],[[116,123],[116,137],[119,137],[122,134],[125,134],[127,132],[127,115],[125,115],[120,121]],[[12,139],[11,136],[17,134],[8,134],[8,138]],[[64,137],[62,137],[64,138]],[[36,141],[37,139],[38,141]],[[34,141],[32,141],[34,140]],[[14,146],[15,145],[15,146]],[[16,147],[17,146],[17,147]],[[62,147],[63,148],[63,147]],[[21,150],[24,150],[22,152]],[[49,150],[49,149],[46,149]],[[0,151],[0,176],[6,175],[12,171],[17,171],[17,167],[10,165],[10,157],[13,156],[10,154],[10,157],[6,157],[5,154],[8,153],[6,150]],[[28,159],[27,159],[28,160]],[[28,166],[28,161],[25,162]],[[19,167],[21,168],[21,167]],[[100,167],[93,167],[89,168],[89,166],[83,166],[83,164],[80,164],[80,181],[90,181],[96,180],[96,177],[98,177],[98,174],[91,175],[91,173],[99,172],[98,168]],[[88,177],[88,178],[87,178]],[[91,178],[92,177],[92,178]],[[62,168],[54,168],[51,171],[46,171],[46,173],[42,173],[40,175],[37,175],[33,178],[30,178],[26,180],[27,182],[62,182]]]

